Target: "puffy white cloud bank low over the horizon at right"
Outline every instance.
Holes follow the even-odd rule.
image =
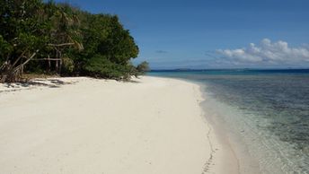
[[[291,48],[285,41],[271,42],[262,39],[259,45],[249,44],[246,48],[217,49],[225,63],[233,65],[301,65],[309,63],[307,45]]]

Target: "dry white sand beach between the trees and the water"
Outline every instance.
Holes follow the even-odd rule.
[[[0,85],[0,173],[237,173],[199,85],[85,77]]]

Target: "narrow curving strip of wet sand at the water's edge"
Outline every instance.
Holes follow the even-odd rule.
[[[212,127],[213,134],[216,135],[219,144],[223,145],[222,152],[218,152],[219,156],[221,156],[223,159],[220,161],[221,169],[219,165],[216,165],[215,168],[218,168],[216,171],[220,171],[219,173],[261,173],[259,161],[255,159],[249,152],[248,146],[245,144],[243,137],[236,134],[232,127],[226,125],[225,120],[222,117],[222,115],[225,115],[226,113],[220,111],[220,109],[217,108],[218,103],[213,103],[215,100],[212,99],[211,96],[209,96],[207,92],[203,90],[207,88],[206,84],[181,77],[166,77],[156,75],[154,75],[154,77],[166,79],[172,78],[199,85],[199,92],[203,99],[199,103],[199,106],[203,111],[203,117],[206,119],[208,126]],[[233,172],[231,172],[231,170]]]

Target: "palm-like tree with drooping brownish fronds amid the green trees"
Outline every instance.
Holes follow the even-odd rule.
[[[82,34],[80,30],[80,20],[78,19],[78,9],[69,4],[55,4],[49,2],[44,5],[45,18],[49,22],[49,43],[47,45],[47,60],[49,61],[49,71],[51,64],[49,57],[55,60],[54,70],[57,74],[62,73],[62,67],[66,72],[74,69],[74,51],[84,49],[82,44]],[[45,58],[46,59],[46,58]],[[45,60],[44,59],[44,60]]]

